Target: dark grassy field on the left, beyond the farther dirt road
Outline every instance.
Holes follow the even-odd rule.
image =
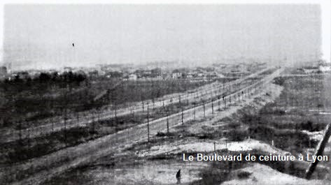
[[[212,81],[191,82],[190,80],[118,81],[98,80],[81,82],[72,88],[47,86],[18,88],[17,84],[1,84],[0,128],[26,128],[28,122],[54,116],[63,116],[92,110],[102,105],[125,107],[127,103],[158,98],[165,94],[195,89]],[[21,82],[24,83],[24,82]],[[40,89],[40,90],[38,90]],[[93,101],[101,92],[110,89],[106,97]],[[20,124],[19,124],[20,123]]]

